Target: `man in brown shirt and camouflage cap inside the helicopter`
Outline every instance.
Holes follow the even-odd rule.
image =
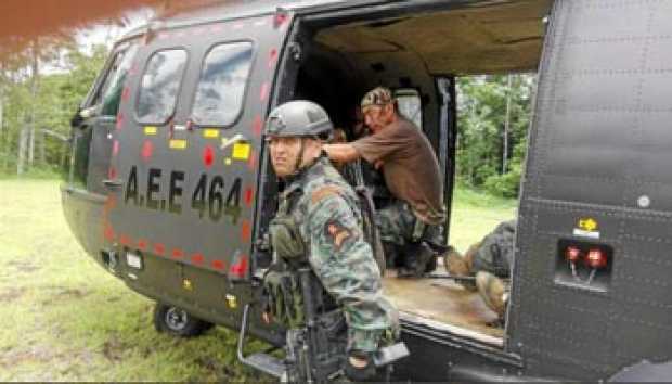
[[[370,91],[361,107],[373,135],[323,149],[337,163],[364,158],[383,169],[387,188],[398,202],[378,212],[380,238],[387,245],[419,243],[417,257],[409,257],[404,264],[421,276],[434,256],[426,243],[442,245],[445,208],[439,162],[419,128],[399,115],[389,89]]]

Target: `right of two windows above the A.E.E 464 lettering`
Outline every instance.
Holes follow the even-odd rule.
[[[251,57],[251,42],[219,44],[207,54],[194,100],[194,123],[228,126],[235,121],[243,105]]]

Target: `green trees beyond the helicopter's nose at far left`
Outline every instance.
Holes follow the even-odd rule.
[[[3,124],[0,129],[0,175],[16,171],[21,130],[29,126],[35,128],[35,168],[53,171],[67,161],[66,143],[41,135],[41,130],[69,136],[70,118],[107,56],[105,46],[94,47],[92,53],[87,54],[68,39],[44,40],[39,49],[38,65],[42,69],[35,78],[36,89],[33,89],[35,75],[29,71],[29,54],[23,52],[15,55],[15,60],[5,63],[1,71]],[[33,116],[35,121],[31,125]]]

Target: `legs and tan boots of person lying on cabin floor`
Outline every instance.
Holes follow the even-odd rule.
[[[501,321],[506,315],[509,285],[504,280],[511,278],[515,238],[516,220],[504,221],[483,240],[471,245],[464,256],[453,249],[444,258],[449,273],[476,277],[475,284],[462,284],[469,291],[478,291]]]

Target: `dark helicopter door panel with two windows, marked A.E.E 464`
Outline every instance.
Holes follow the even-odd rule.
[[[145,36],[121,93],[103,214],[131,280],[150,279],[152,258],[249,279],[262,121],[288,25],[271,14]]]

